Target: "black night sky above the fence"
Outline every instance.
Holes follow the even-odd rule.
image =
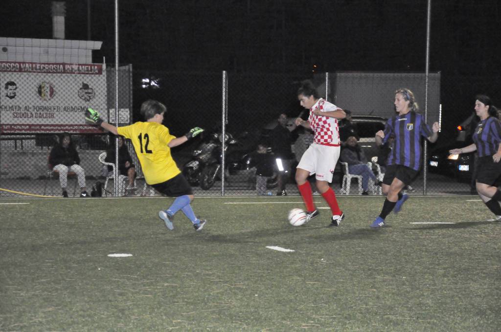
[[[51,1],[4,2],[0,35],[52,37]],[[426,4],[120,0],[120,61],[151,72],[424,71]],[[87,39],[87,0],[66,7],[66,38]],[[430,71],[442,73],[442,99],[457,107],[485,92],[501,104],[500,1],[433,0],[431,18]],[[91,0],[91,22],[91,39],[104,41],[94,60],[113,62],[114,1]]]

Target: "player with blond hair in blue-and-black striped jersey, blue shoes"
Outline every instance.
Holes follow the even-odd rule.
[[[395,91],[394,105],[398,114],[390,118],[384,131],[379,130],[375,137],[377,145],[385,143],[391,135],[395,136],[395,141],[383,178],[383,194],[386,199],[381,213],[372,222],[371,227],[382,227],[385,224],[384,219],[392,210],[395,213],[400,212],[403,203],[409,198],[407,193],[401,191],[416,177],[421,165],[420,136],[433,143],[437,140],[440,129],[438,122],[434,122],[430,128],[424,117],[417,113],[419,108],[414,93],[408,88]]]

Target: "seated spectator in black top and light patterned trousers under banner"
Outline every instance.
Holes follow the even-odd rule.
[[[49,154],[49,164],[52,170],[59,173],[59,182],[63,189],[63,197],[68,197],[66,186],[68,184],[68,172],[74,172],[78,177],[78,184],[80,185],[80,197],[88,197],[85,187],[85,171],[80,166],[80,157],[78,152],[71,141],[71,136],[68,132],[63,132],[59,138],[59,143],[54,145]]]

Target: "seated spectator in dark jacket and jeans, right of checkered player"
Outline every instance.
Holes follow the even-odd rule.
[[[376,179],[376,175],[372,169],[367,165],[367,158],[364,151],[355,136],[350,136],[346,140],[346,147],[341,151],[341,160],[348,163],[348,171],[351,174],[362,175],[362,194],[368,195],[367,188],[369,186],[369,178],[371,178],[376,185],[381,185],[380,181]]]

